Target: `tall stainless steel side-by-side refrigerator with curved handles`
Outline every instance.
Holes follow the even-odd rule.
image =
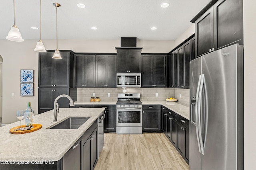
[[[190,170],[244,169],[243,46],[190,61]]]

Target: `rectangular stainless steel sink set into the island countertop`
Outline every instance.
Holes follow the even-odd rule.
[[[78,129],[90,117],[69,117],[68,119],[46,129]]]

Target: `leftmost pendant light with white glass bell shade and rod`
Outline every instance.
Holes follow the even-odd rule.
[[[14,25],[11,27],[11,30],[8,33],[8,36],[6,39],[10,41],[16,41],[16,42],[22,42],[24,39],[22,39],[20,31],[18,27],[16,26],[16,20],[15,20],[15,0],[13,0],[13,10],[14,10]]]

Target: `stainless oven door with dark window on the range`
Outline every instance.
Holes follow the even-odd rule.
[[[116,127],[142,127],[142,109],[117,108]]]

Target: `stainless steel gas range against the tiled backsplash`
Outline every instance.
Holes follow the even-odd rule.
[[[140,94],[117,94],[116,133],[142,134],[142,103]]]

